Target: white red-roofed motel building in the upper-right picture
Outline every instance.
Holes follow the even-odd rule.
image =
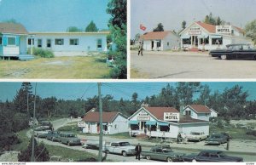
[[[194,22],[180,32],[181,48],[195,50],[212,50],[225,48],[231,43],[252,43],[252,39],[245,37],[245,32],[236,26],[212,26]]]

